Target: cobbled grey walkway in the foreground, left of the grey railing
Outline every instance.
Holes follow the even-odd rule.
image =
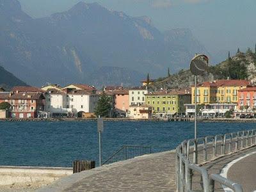
[[[175,191],[175,150],[76,173],[40,191]]]

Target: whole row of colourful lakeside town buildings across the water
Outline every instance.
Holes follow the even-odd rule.
[[[95,108],[102,95],[108,97],[108,118],[170,119],[195,114],[195,87],[150,92],[154,80],[141,86],[105,86],[97,90],[87,84],[47,84],[41,88],[1,88],[0,118],[96,118]],[[204,118],[255,118],[256,86],[247,80],[221,79],[198,84],[198,116]],[[7,106],[3,108],[4,106]]]

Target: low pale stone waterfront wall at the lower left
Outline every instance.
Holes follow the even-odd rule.
[[[0,166],[0,186],[35,183],[47,185],[72,174],[72,168]]]

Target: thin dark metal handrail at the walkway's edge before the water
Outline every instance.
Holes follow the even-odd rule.
[[[151,154],[151,146],[140,146],[140,145],[124,145],[117,150],[111,157],[109,157],[103,164],[114,163],[116,161],[123,161],[132,159],[133,157],[143,156],[145,154]]]

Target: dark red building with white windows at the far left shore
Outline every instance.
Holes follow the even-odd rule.
[[[11,104],[10,115],[13,118],[35,118],[40,111],[44,111],[43,92],[35,87],[15,87],[12,92],[0,93],[0,103]]]

